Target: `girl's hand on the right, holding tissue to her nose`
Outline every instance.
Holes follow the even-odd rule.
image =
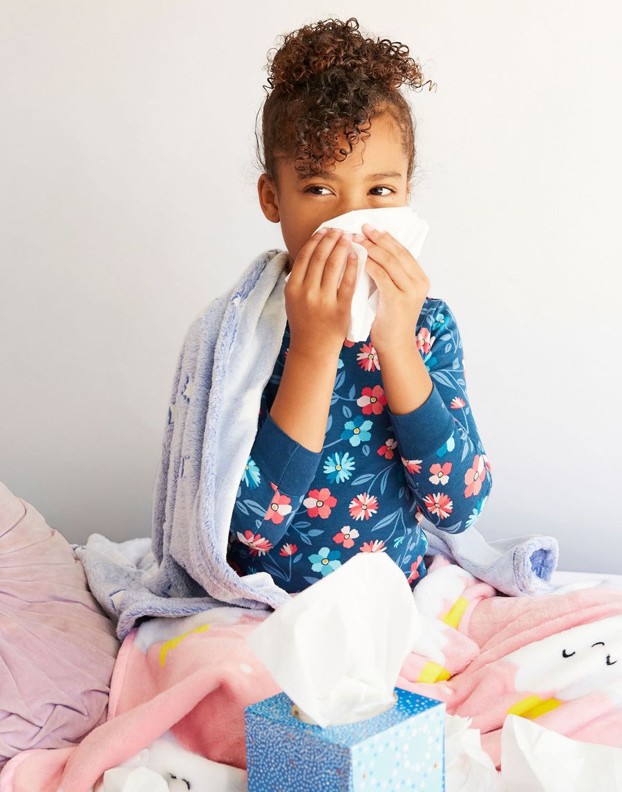
[[[416,339],[419,314],[426,301],[430,279],[412,256],[389,231],[365,223],[366,237],[355,234],[354,241],[367,251],[366,272],[380,291],[370,341],[376,352],[412,347]]]

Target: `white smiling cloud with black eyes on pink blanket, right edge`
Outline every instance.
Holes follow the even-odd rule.
[[[517,667],[518,693],[554,695],[552,709],[563,701],[578,699],[594,691],[620,698],[622,691],[622,616],[572,627],[571,630],[522,646],[506,656]],[[511,708],[514,714],[526,714],[530,696]],[[541,700],[541,699],[540,699]],[[522,710],[522,711],[521,711]],[[541,713],[540,713],[541,714]],[[526,714],[537,717],[536,714]]]

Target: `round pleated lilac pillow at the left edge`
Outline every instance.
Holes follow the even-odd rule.
[[[0,482],[0,768],[103,723],[118,652],[70,544]]]

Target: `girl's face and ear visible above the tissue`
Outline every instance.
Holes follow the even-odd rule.
[[[257,185],[264,215],[281,223],[291,271],[298,251],[324,221],[353,209],[407,206],[408,158],[400,128],[389,114],[375,116],[364,144],[359,139],[343,162],[304,180],[294,169],[294,157],[279,160],[279,192],[266,173]],[[363,152],[363,145],[365,151]],[[348,150],[345,136],[339,148]]]

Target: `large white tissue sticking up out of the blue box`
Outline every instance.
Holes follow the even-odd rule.
[[[271,613],[247,641],[301,720],[324,727],[393,706],[419,629],[404,572],[385,553],[359,553]]]

